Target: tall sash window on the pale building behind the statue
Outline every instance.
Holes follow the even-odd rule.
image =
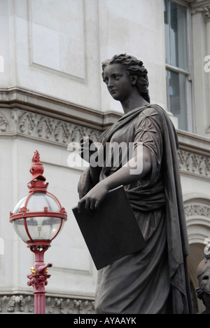
[[[188,6],[164,0],[167,107],[179,129],[193,130],[189,60]]]

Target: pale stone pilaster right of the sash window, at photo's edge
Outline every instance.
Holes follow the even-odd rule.
[[[210,1],[192,8],[193,68],[195,91],[196,133],[210,136],[210,72],[204,70],[205,58],[210,55]]]

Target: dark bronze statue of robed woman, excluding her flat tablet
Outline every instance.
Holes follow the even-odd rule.
[[[78,184],[78,209],[94,210],[110,189],[123,185],[146,247],[99,271],[97,313],[191,313],[188,235],[174,125],[161,107],[150,104],[148,72],[140,60],[115,55],[102,69],[109,93],[125,114],[102,133],[99,142],[104,146],[132,142],[134,158],[118,167],[90,164]],[[132,161],[140,160],[138,144],[143,144],[143,170],[131,175]]]

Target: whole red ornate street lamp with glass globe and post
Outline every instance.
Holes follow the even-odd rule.
[[[47,191],[48,183],[45,183],[43,165],[39,160],[39,153],[35,151],[34,165],[29,171],[32,175],[28,184],[29,195],[18,202],[13,213],[10,212],[10,222],[35,254],[35,264],[27,275],[28,285],[34,287],[35,314],[45,314],[45,285],[50,278],[48,267],[52,263],[44,264],[44,253],[62,230],[67,214],[59,200]]]

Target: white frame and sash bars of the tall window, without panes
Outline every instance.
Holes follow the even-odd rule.
[[[163,0],[165,1],[165,0]],[[169,100],[169,78],[168,74],[169,71],[181,73],[186,76],[186,121],[187,121],[187,132],[195,132],[195,118],[194,118],[194,102],[193,102],[193,41],[192,41],[192,29],[190,29],[190,26],[192,26],[192,20],[191,20],[191,8],[190,4],[183,2],[181,0],[167,0],[167,4],[171,4],[172,2],[179,4],[181,6],[185,6],[187,8],[187,15],[186,15],[186,34],[187,34],[187,69],[181,69],[179,67],[176,67],[172,64],[166,63],[165,58],[165,71],[166,71],[166,94],[167,94],[167,106],[169,107],[168,110],[170,112],[170,100]],[[170,9],[170,5],[169,5]],[[169,11],[170,13],[170,11]],[[171,26],[171,18],[170,15],[168,16],[169,20],[169,26]],[[169,29],[169,42],[170,42],[170,29]],[[166,39],[165,39],[165,47],[166,47]],[[169,51],[170,51],[170,60],[172,58],[171,56],[171,46],[169,44]],[[179,126],[178,126],[179,128]]]

